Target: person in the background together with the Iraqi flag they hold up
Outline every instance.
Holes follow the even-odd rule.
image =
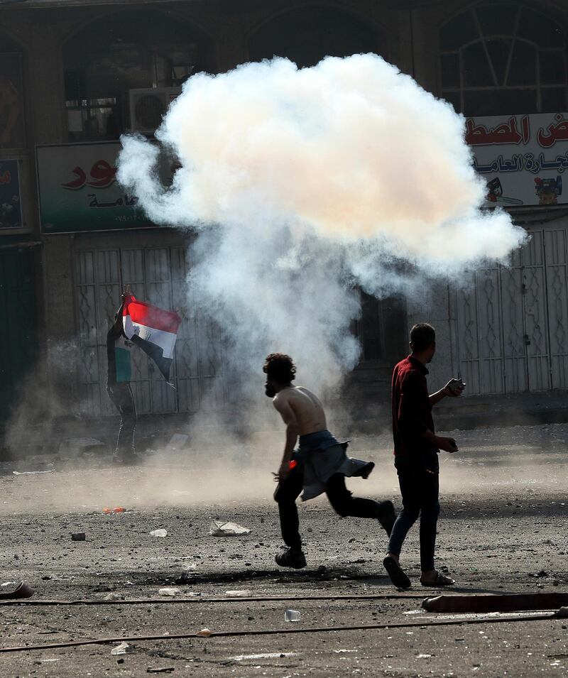
[[[148,354],[170,383],[173,349],[180,324],[181,318],[177,313],[138,301],[131,295],[129,285],[126,287],[114,324],[107,334],[107,391],[121,415],[113,458],[118,464],[137,464],[139,461],[134,449],[136,405],[130,386],[131,347],[139,346]]]

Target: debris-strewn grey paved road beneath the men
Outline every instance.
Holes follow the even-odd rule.
[[[459,454],[442,458],[439,566],[449,568],[459,590],[568,592],[566,425],[455,435]],[[388,440],[360,439],[353,451],[373,456],[377,469],[376,479],[353,481],[351,488],[396,497]],[[246,469],[233,454],[209,466],[208,458],[157,455],[134,471],[100,459],[5,464],[2,581],[26,579],[37,590],[33,601],[100,604],[5,606],[0,647],[191,634],[204,627],[244,635],[133,641],[133,652],[119,657],[111,655],[118,643],[0,654],[2,677],[138,677],[170,667],[175,676],[206,678],[567,674],[567,620],[432,625],[442,616],[421,611],[429,592],[415,585],[399,594],[384,576],[386,538],[378,525],[338,520],[324,499],[300,506],[307,569],[277,569],[269,465]],[[129,510],[102,512],[116,506]],[[212,537],[215,518],[252,532]],[[160,527],[167,537],[149,534]],[[86,532],[87,540],[72,542],[71,532]],[[404,554],[415,582],[417,558],[415,529]],[[187,583],[176,584],[184,568]],[[177,586],[178,598],[159,596],[163,586]],[[218,600],[235,590],[277,599]],[[106,601],[109,594],[119,599]],[[180,597],[187,601],[176,602]],[[299,622],[285,622],[288,607],[300,611]],[[400,624],[408,626],[384,628]],[[348,626],[383,628],[342,630]],[[322,627],[335,630],[310,632]],[[261,630],[306,633],[246,635]]]

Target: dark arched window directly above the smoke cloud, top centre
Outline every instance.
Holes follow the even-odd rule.
[[[279,14],[249,39],[252,61],[287,57],[300,68],[324,57],[378,52],[376,28],[351,13],[312,6]]]

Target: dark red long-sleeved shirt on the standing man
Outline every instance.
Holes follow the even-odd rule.
[[[393,371],[393,439],[395,454],[422,454],[439,452],[422,438],[426,430],[434,430],[432,405],[428,397],[424,365],[408,356]]]

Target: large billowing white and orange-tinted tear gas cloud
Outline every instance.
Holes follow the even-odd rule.
[[[359,356],[354,284],[384,295],[410,284],[395,263],[457,274],[525,238],[479,211],[464,119],[376,55],[196,75],[156,136],[182,163],[173,185],[140,137],[123,138],[119,181],[155,222],[200,231],[192,283],[257,370],[287,351],[334,383]]]

